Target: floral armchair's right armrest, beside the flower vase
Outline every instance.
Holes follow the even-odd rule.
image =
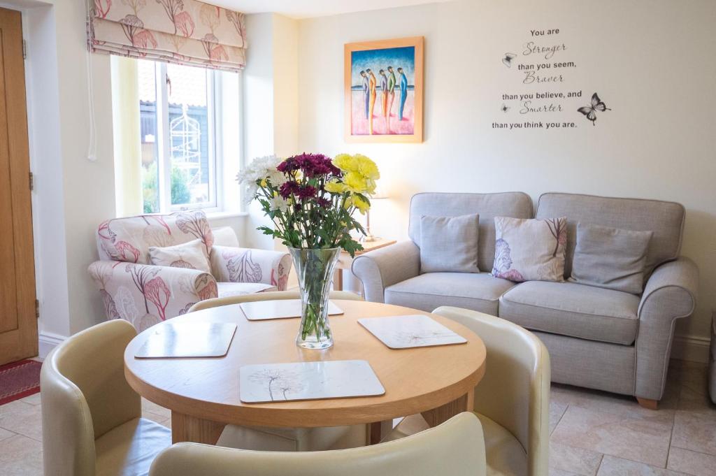
[[[286,289],[291,273],[291,255],[284,251],[214,246],[211,270],[221,283],[264,283]]]

